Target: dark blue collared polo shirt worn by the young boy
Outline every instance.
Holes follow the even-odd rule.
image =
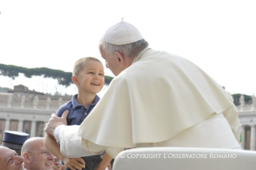
[[[61,117],[64,111],[69,111],[69,114],[67,115],[67,125],[80,125],[83,122],[83,119],[89,115],[96,103],[100,100],[100,97],[96,95],[93,103],[85,108],[83,104],[77,103],[76,97],[77,95],[73,95],[71,101],[64,103],[56,112],[56,115]]]

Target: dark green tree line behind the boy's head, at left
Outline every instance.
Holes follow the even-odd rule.
[[[47,67],[39,68],[26,68],[18,67],[14,65],[0,64],[0,75],[8,76],[11,79],[18,77],[18,73],[23,73],[27,78],[31,78],[33,75],[43,75],[45,78],[57,79],[60,85],[68,87],[72,83],[72,73],[60,70],[54,70]],[[105,84],[109,84],[113,77],[105,75]]]

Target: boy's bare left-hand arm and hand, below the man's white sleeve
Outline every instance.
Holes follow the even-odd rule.
[[[85,168],[85,163],[82,158],[67,158],[63,156],[60,152],[59,144],[56,142],[54,136],[46,134],[44,145],[54,156],[59,158],[59,160],[62,160],[63,163],[71,170]]]

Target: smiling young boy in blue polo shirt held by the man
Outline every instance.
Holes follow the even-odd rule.
[[[99,96],[96,95],[104,86],[104,67],[100,60],[86,57],[76,61],[73,67],[72,81],[78,89],[78,94],[74,95],[71,101],[59,107],[56,115],[61,117],[63,112],[68,110],[67,125],[79,125],[100,100]],[[100,155],[93,154],[83,158],[67,158],[61,154],[59,144],[54,136],[50,135],[46,135],[45,145],[51,153],[63,161],[67,166],[66,169],[92,170],[99,163],[96,169],[105,169],[112,160],[106,152],[104,152],[102,159]]]

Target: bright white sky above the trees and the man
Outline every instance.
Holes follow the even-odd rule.
[[[152,49],[196,63],[230,94],[256,95],[255,9],[254,0],[0,0],[0,63],[71,72],[82,57],[104,62],[100,38],[124,18]],[[105,75],[114,76],[106,68]],[[60,88],[53,79],[0,75],[0,87],[18,84]]]

